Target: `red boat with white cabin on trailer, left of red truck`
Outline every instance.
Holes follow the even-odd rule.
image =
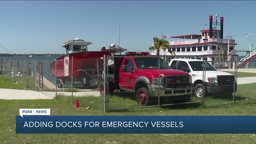
[[[71,77],[73,84],[83,84],[84,88],[97,86],[99,79],[102,79],[103,56],[126,50],[121,47],[111,47],[108,50],[88,51],[90,44],[92,43],[81,38],[63,43],[62,47],[65,47],[66,54],[51,63],[52,76],[57,77],[58,87],[71,84]]]

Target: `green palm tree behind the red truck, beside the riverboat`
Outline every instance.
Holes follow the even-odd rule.
[[[164,38],[159,39],[158,37],[154,37],[154,45],[149,47],[150,51],[156,50],[156,55],[159,55],[159,51],[163,49],[164,51],[166,48],[170,45],[168,41],[166,41]]]

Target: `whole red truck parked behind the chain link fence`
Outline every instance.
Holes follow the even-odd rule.
[[[170,69],[162,58],[143,52],[141,55],[133,54],[136,53],[126,52],[124,57],[113,57],[114,64],[108,67],[109,92],[116,89],[133,92],[142,106],[149,105],[158,95],[190,101],[193,84],[189,74]]]

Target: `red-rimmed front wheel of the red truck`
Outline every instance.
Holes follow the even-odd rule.
[[[141,87],[136,94],[137,102],[141,106],[148,106],[149,104],[149,91],[146,87]]]

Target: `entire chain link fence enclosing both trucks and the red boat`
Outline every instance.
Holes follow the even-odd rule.
[[[0,60],[1,75],[26,90],[55,92],[57,98],[73,105],[79,100],[81,107],[105,111],[187,103],[215,106],[256,99],[256,61],[204,59],[197,65],[178,62],[174,68],[173,56],[106,55],[104,59],[102,54],[66,56],[53,62],[11,56]]]

